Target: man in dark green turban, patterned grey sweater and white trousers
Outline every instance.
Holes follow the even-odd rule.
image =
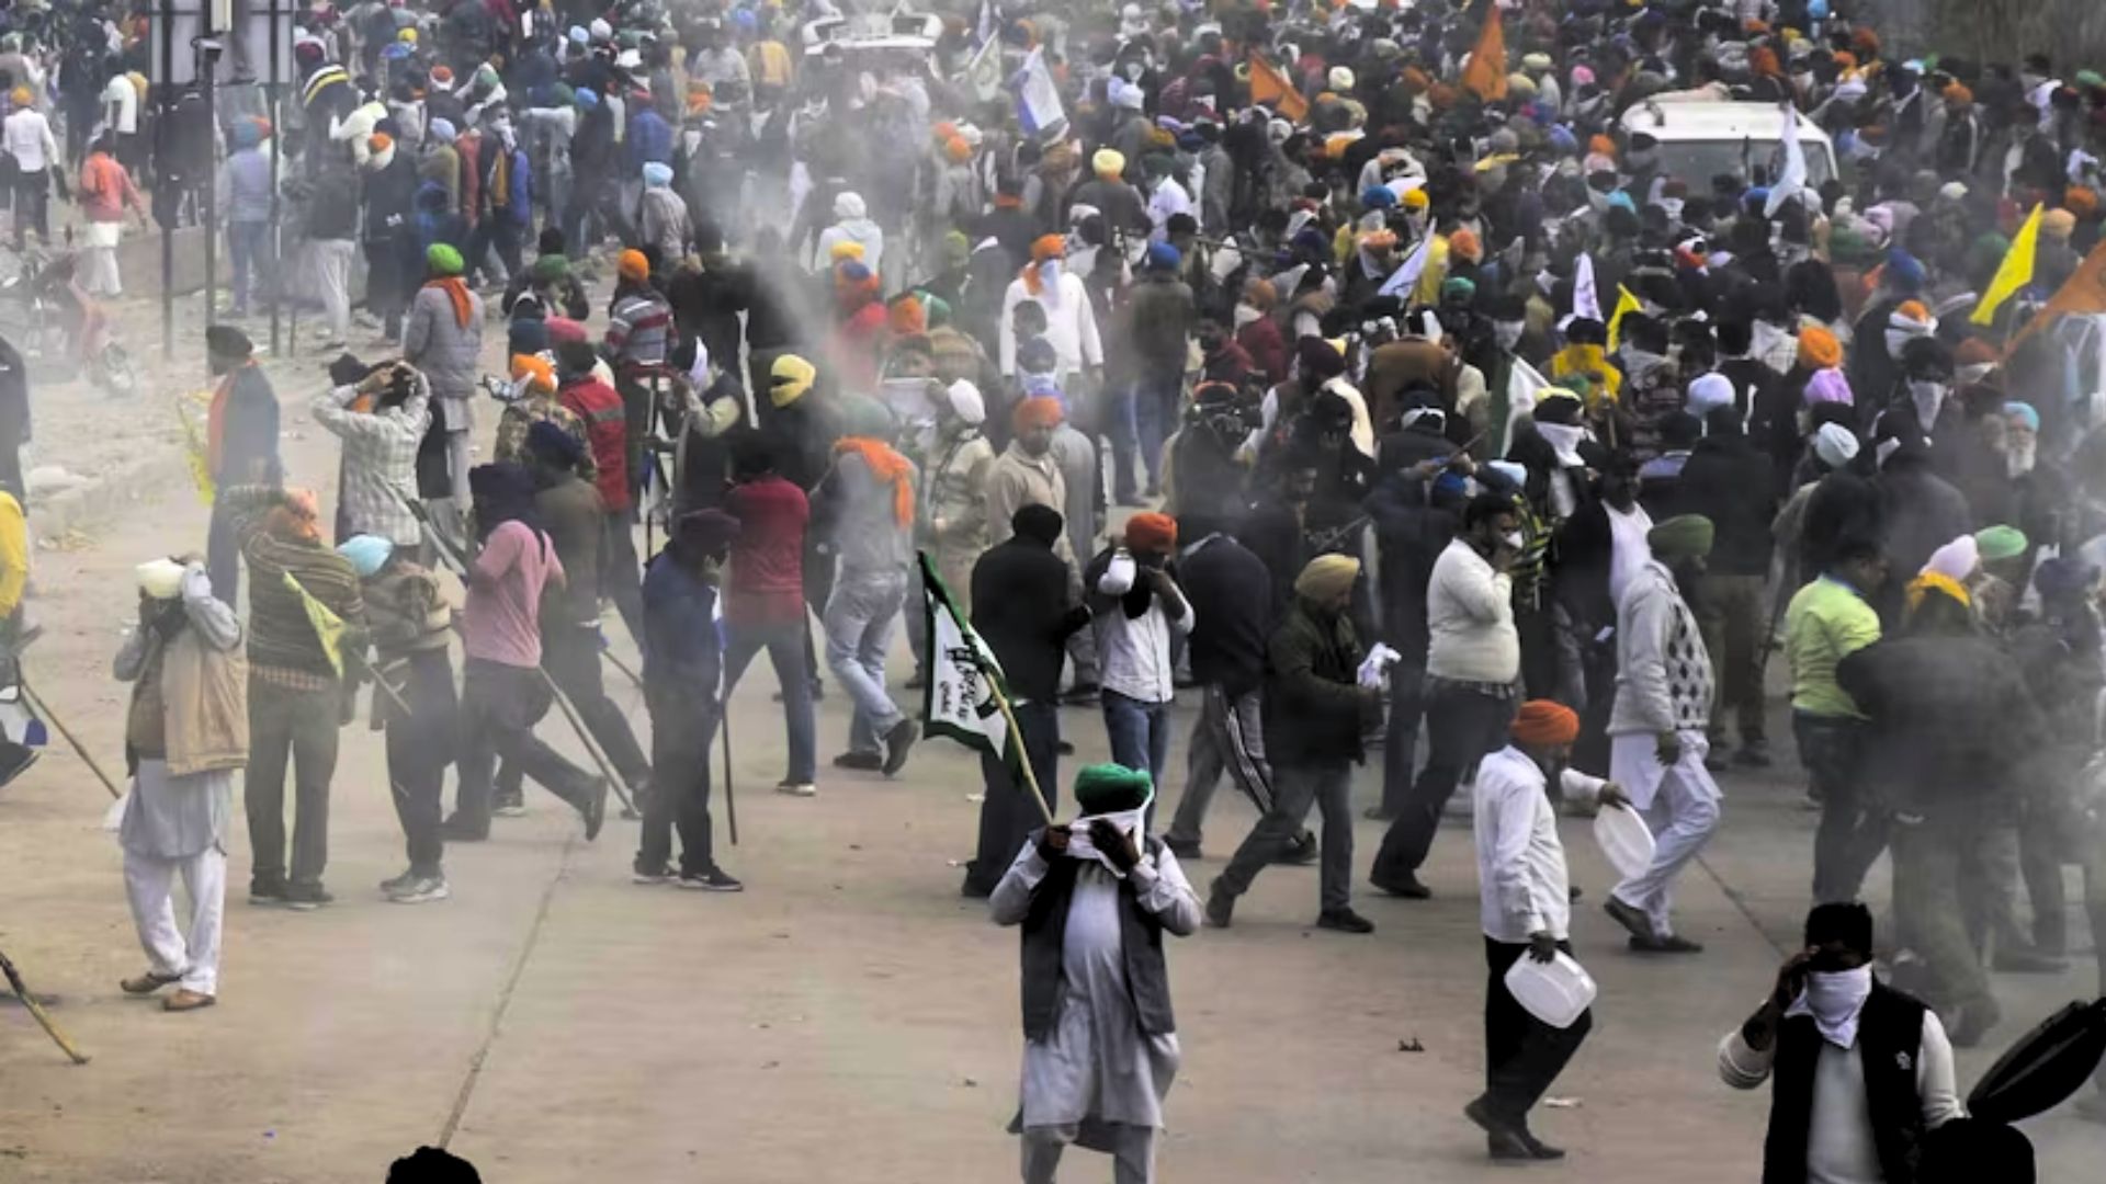
[[[1674,933],[1674,876],[1718,828],[1718,782],[1710,754],[1712,666],[1683,588],[1704,575],[1712,522],[1681,514],[1645,535],[1653,558],[1624,586],[1615,607],[1615,708],[1609,712],[1609,777],[1653,830],[1653,864],[1603,902],[1630,929],[1641,954],[1697,954]]]

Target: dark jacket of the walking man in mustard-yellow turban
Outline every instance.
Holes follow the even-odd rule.
[[[1379,712],[1354,683],[1360,638],[1352,619],[1295,596],[1266,645],[1266,758],[1272,765],[1360,761],[1360,735]]]

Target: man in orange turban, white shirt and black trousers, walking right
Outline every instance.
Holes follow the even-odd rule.
[[[1571,708],[1529,699],[1514,712],[1508,744],[1476,771],[1470,817],[1487,967],[1485,1091],[1464,1106],[1464,1117],[1485,1129],[1495,1161],[1565,1157],[1529,1131],[1529,1110],[1594,1026],[1592,1011],[1582,1011],[1569,1026],[1552,1028],[1506,988],[1506,971],[1523,956],[1550,963],[1571,954],[1571,876],[1550,782],[1558,782],[1565,801],[1630,805],[1615,784],[1567,767],[1577,737],[1580,716]]]

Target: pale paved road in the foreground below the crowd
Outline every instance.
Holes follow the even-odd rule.
[[[297,381],[280,377],[289,404],[305,394]],[[295,480],[329,485],[335,453],[297,419]],[[131,617],[131,567],[204,537],[190,491],[145,493],[84,550],[38,556],[48,634],[32,676],[118,773],[124,699],[107,659]],[[628,645],[619,624],[609,632]],[[371,1182],[442,1138],[503,1184],[1013,1178],[1002,1125],[1019,1049],[1015,935],[956,895],[977,765],[925,746],[895,782],[828,775],[813,801],[769,794],[781,775],[771,691],[756,668],[731,712],[743,843],[722,862],[750,887],[731,897],[630,885],[634,824],[611,822],[585,845],[554,798],[531,796],[529,817],[449,851],[455,900],[390,906],[373,883],[400,870],[400,834],[379,739],[356,725],[333,803],[337,906],[293,914],[236,900],[221,1005],[194,1015],[116,990],[139,952],[116,845],[97,828],[105,798],[53,750],[0,794],[0,948],[63,996],[57,1013],[95,1064],[63,1066],[19,1009],[0,1009],[0,1180]],[[1179,739],[1190,718],[1188,704]],[[1104,756],[1093,712],[1070,710],[1064,725],[1078,746],[1066,771]],[[819,733],[830,756],[847,733],[838,695]],[[1573,1159],[1537,1173],[1756,1178],[1767,1098],[1718,1085],[1712,1060],[1805,908],[1813,820],[1794,780],[1780,769],[1727,782],[1725,828],[1683,891],[1685,931],[1710,946],[1697,959],[1624,952],[1594,908],[1607,866],[1586,824],[1567,824],[1588,889],[1575,944],[1601,1001],[1594,1037],[1552,1091],[1571,1106],[1535,1121]],[[1177,788],[1181,777],[1163,809]],[[1363,771],[1360,805],[1377,790]],[[1190,868],[1200,887],[1253,820],[1234,794],[1215,811],[1211,857]],[[1379,828],[1356,830],[1365,870]],[[246,836],[236,828],[230,845],[238,889]],[[1466,826],[1443,830],[1426,879],[1436,900],[1365,900],[1379,929],[1346,938],[1310,929],[1314,870],[1276,868],[1232,931],[1175,944],[1186,1068],[1163,1180],[1491,1178],[1483,1138],[1459,1117],[1481,1074],[1485,978]],[[2081,916],[2077,931],[2089,948]],[[2011,1022],[1996,1037],[2091,992],[2089,980],[2001,980]],[[1400,1051],[1405,1041],[1424,1051]],[[1969,1081],[1992,1051],[1965,1058]],[[2070,1117],[2037,1123],[2034,1138],[2047,1180],[2087,1180],[2106,1155],[2106,1127]],[[1087,1155],[1068,1169],[1104,1176]]]

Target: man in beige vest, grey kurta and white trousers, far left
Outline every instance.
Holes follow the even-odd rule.
[[[227,904],[227,817],[234,771],[249,763],[249,666],[234,609],[213,596],[202,563],[139,567],[139,628],[114,672],[133,685],[124,752],[133,788],[118,843],[124,895],[147,969],[124,994],[177,990],[166,1011],[219,999],[219,929]],[[187,933],[175,921],[175,879],[190,893]]]

